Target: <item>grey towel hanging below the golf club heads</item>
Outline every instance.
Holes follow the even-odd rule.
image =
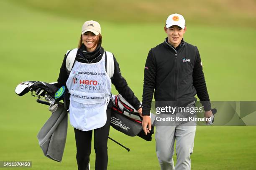
[[[58,105],[37,135],[44,155],[61,162],[67,138],[68,116],[64,105]]]

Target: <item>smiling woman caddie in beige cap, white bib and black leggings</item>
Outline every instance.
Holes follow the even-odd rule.
[[[58,86],[66,85],[70,93],[69,117],[74,127],[78,170],[89,169],[92,130],[96,153],[95,170],[107,169],[110,108],[113,105],[110,95],[111,83],[119,94],[142,114],[141,102],[122,77],[114,56],[113,77],[110,78],[107,74],[105,55],[109,52],[105,52],[101,46],[100,32],[100,24],[96,21],[86,21],[83,24],[73,68],[68,74],[65,65],[66,54],[58,78]],[[99,85],[100,88],[96,87]]]

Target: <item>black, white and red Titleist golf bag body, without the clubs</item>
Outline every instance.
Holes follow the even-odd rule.
[[[128,136],[139,136],[144,140],[151,141],[154,133],[154,126],[151,125],[151,131],[147,135],[142,128],[142,117],[136,109],[129,104],[122,95],[113,96],[114,105],[111,112],[110,125]],[[155,115],[151,114],[152,124]]]

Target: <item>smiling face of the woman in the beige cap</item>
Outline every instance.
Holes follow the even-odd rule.
[[[84,34],[82,35],[82,42],[84,43],[87,51],[92,52],[96,49],[97,44],[95,45],[95,43],[97,43],[97,38],[98,36],[95,35],[93,32],[84,32]]]

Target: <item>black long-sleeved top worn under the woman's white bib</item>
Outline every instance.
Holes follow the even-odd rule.
[[[97,47],[97,49],[98,49],[98,52],[96,54],[92,55],[92,57],[91,56],[87,57],[86,55],[84,55],[84,52],[83,52],[85,50],[85,46],[82,45],[82,47],[78,49],[76,60],[83,63],[99,62],[102,58],[104,49],[101,46]],[[59,72],[59,78],[58,78],[58,84],[57,84],[58,87],[61,87],[62,85],[66,86],[66,82],[69,77],[69,74],[67,73],[67,70],[66,70],[66,59],[67,59],[67,56],[65,54],[64,60],[62,62],[60,72]],[[142,107],[141,102],[134,95],[133,91],[128,86],[125,78],[121,75],[119,64],[116,61],[115,57],[114,57],[114,66],[115,66],[115,70],[114,70],[113,77],[111,78],[111,82],[113,83],[113,85],[115,85],[115,89],[119,92],[119,94],[122,95],[125,98],[125,100],[127,100],[136,110],[138,110],[139,108]],[[112,103],[110,102],[110,104]],[[111,105],[108,105],[108,107],[111,107]]]

